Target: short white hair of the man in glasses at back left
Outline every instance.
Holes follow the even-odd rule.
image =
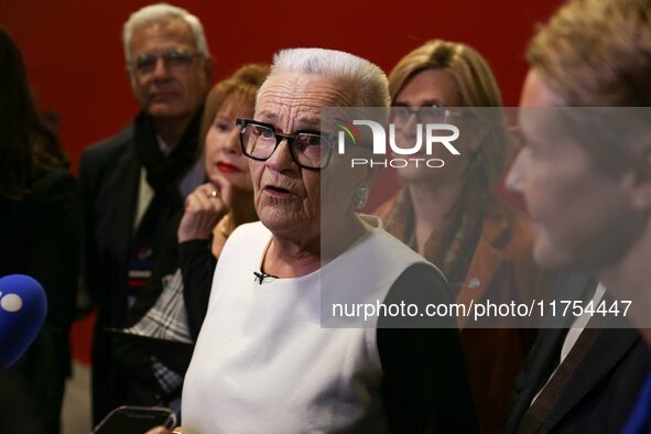
[[[131,63],[132,61],[130,44],[133,29],[152,22],[169,19],[185,21],[194,34],[197,52],[204,57],[208,56],[208,43],[206,42],[204,26],[202,25],[199,19],[183,8],[167,3],[156,3],[145,6],[144,8],[133,12],[122,28],[122,43],[124,44],[124,58],[127,59],[127,64]]]

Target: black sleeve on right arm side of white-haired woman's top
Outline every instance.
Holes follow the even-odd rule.
[[[451,294],[443,275],[420,263],[403,271],[384,304],[402,301],[424,312],[449,303]],[[479,432],[456,318],[381,317],[377,334],[392,433]]]

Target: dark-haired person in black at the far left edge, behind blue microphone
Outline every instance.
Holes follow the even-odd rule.
[[[47,296],[43,328],[2,372],[4,432],[59,432],[79,271],[78,199],[68,160],[32,99],[20,51],[0,28],[0,276],[28,274]]]

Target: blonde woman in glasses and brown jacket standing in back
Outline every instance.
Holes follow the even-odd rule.
[[[477,111],[477,119],[462,127],[455,141],[460,158],[436,169],[395,170],[404,186],[375,213],[387,231],[438,267],[458,302],[510,302],[545,291],[550,276],[532,258],[533,224],[493,192],[510,140],[499,111],[500,89],[486,59],[466,44],[432,40],[395,65],[389,88],[392,121],[405,144],[415,142],[417,123],[458,124],[452,116],[475,115],[451,109],[493,109]],[[496,433],[535,330],[463,328],[460,336],[482,432]]]

